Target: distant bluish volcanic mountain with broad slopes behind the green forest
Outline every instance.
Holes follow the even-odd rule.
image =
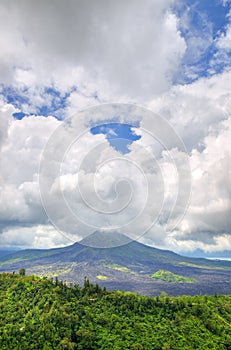
[[[146,295],[158,295],[161,292],[171,295],[231,292],[230,261],[183,257],[168,250],[129,241],[121,234],[107,237],[105,233],[95,232],[82,242],[64,248],[27,249],[2,256],[0,271],[25,268],[28,274],[49,278],[58,276],[67,283],[78,284],[82,284],[86,276],[91,282],[109,289]],[[97,245],[102,247],[102,243],[105,247],[117,246],[95,248]],[[153,274],[160,270],[180,276],[181,281],[195,282],[153,279]]]

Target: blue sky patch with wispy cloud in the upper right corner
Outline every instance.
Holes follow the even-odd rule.
[[[220,0],[184,1],[179,2],[176,13],[181,18],[185,17],[187,23],[183,20],[180,23],[180,30],[188,43],[182,62],[182,72],[175,77],[176,83],[178,81],[190,83],[202,76],[221,73],[227,62],[215,58],[219,54],[216,39],[221,33],[226,32],[226,26],[230,23],[230,4],[224,5]],[[200,41],[195,43],[194,40],[197,39],[201,39],[202,43]],[[197,46],[198,52],[194,56],[193,51]],[[228,57],[230,59],[230,54]],[[192,71],[192,76],[188,74],[189,70]]]

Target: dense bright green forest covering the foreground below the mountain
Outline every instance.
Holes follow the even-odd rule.
[[[231,349],[231,296],[150,298],[1,274],[0,349]]]

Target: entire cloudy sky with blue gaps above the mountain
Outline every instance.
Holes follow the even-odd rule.
[[[0,247],[231,257],[230,0],[2,0],[0,47]]]

